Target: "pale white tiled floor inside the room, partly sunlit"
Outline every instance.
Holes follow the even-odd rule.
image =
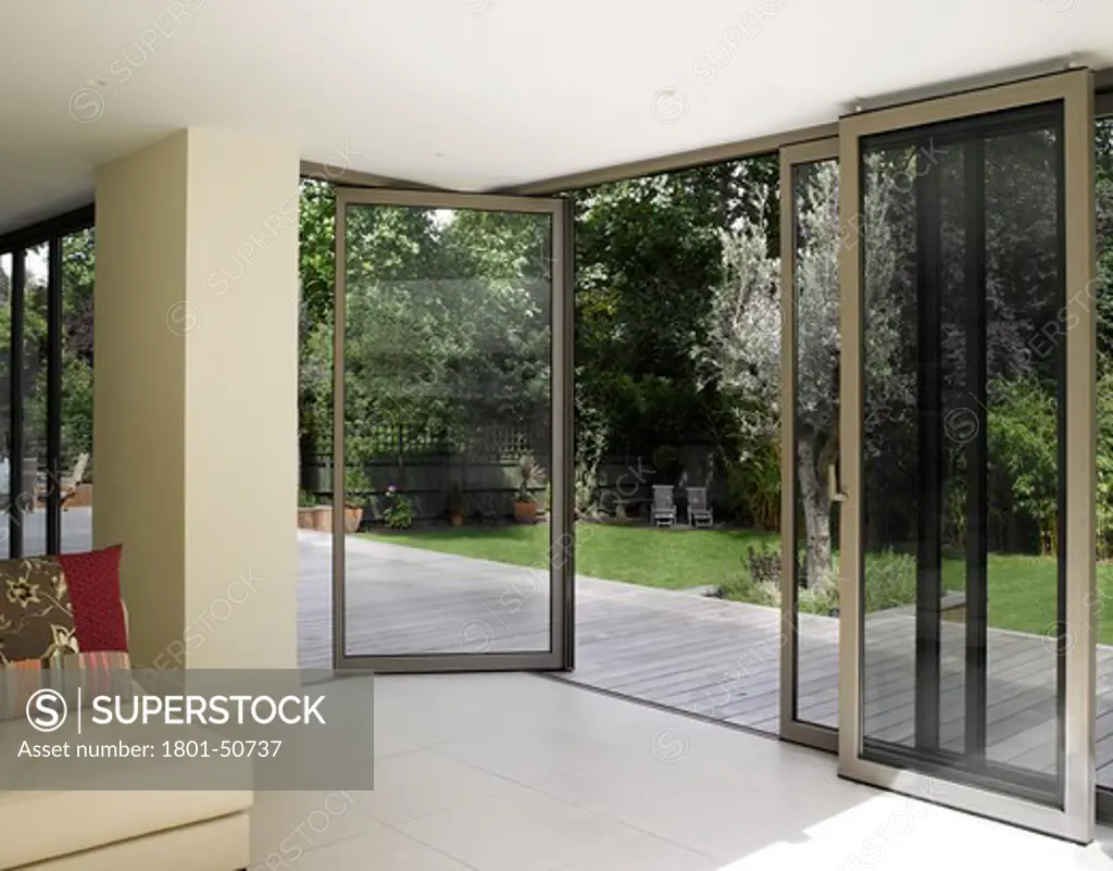
[[[374,792],[258,793],[253,871],[1113,871],[1113,846],[847,783],[830,756],[543,677],[380,677],[375,703]]]

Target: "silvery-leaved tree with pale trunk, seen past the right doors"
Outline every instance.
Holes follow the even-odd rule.
[[[893,371],[888,391],[907,397],[909,386],[892,361],[900,348],[899,309],[892,293],[893,254],[889,208],[900,176],[880,160],[867,162],[865,212],[860,222],[866,258],[866,333],[873,365]],[[827,467],[838,456],[839,282],[844,239],[838,222],[838,166],[809,167],[797,189],[796,273],[796,457],[806,530],[806,580],[815,588],[831,583],[830,496]],[[754,208],[723,233],[722,283],[715,288],[707,342],[695,345],[723,389],[735,398],[740,431],[751,440],[775,439],[780,427],[781,288],[780,257],[771,253],[770,198],[767,188],[751,193]],[[875,397],[885,401],[888,397]]]

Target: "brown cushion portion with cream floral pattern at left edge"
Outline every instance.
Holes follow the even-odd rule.
[[[75,627],[68,579],[55,559],[0,560],[0,665],[76,653]]]

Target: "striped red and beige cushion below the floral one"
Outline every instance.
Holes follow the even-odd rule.
[[[93,696],[131,698],[131,662],[125,650],[56,654],[0,666],[0,720],[26,716],[28,699],[40,689],[56,689],[73,707],[81,691],[81,706]]]

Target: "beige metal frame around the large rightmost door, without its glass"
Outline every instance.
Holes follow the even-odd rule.
[[[926,773],[861,759],[861,252],[856,216],[860,198],[860,140],[877,133],[915,128],[956,118],[1048,101],[1063,105],[1065,300],[1090,297],[1094,281],[1094,112],[1090,70],[1033,78],[1011,85],[851,115],[839,123],[839,225],[846,245],[841,284],[840,461],[843,502],[839,560],[839,762],[847,777],[933,802],[1002,819],[1072,841],[1093,839],[1095,790],[1095,317],[1075,306],[1078,322],[1066,339],[1066,613],[1063,805],[1037,804],[1004,793],[959,784]],[[1085,232],[1082,232],[1085,231]]]

